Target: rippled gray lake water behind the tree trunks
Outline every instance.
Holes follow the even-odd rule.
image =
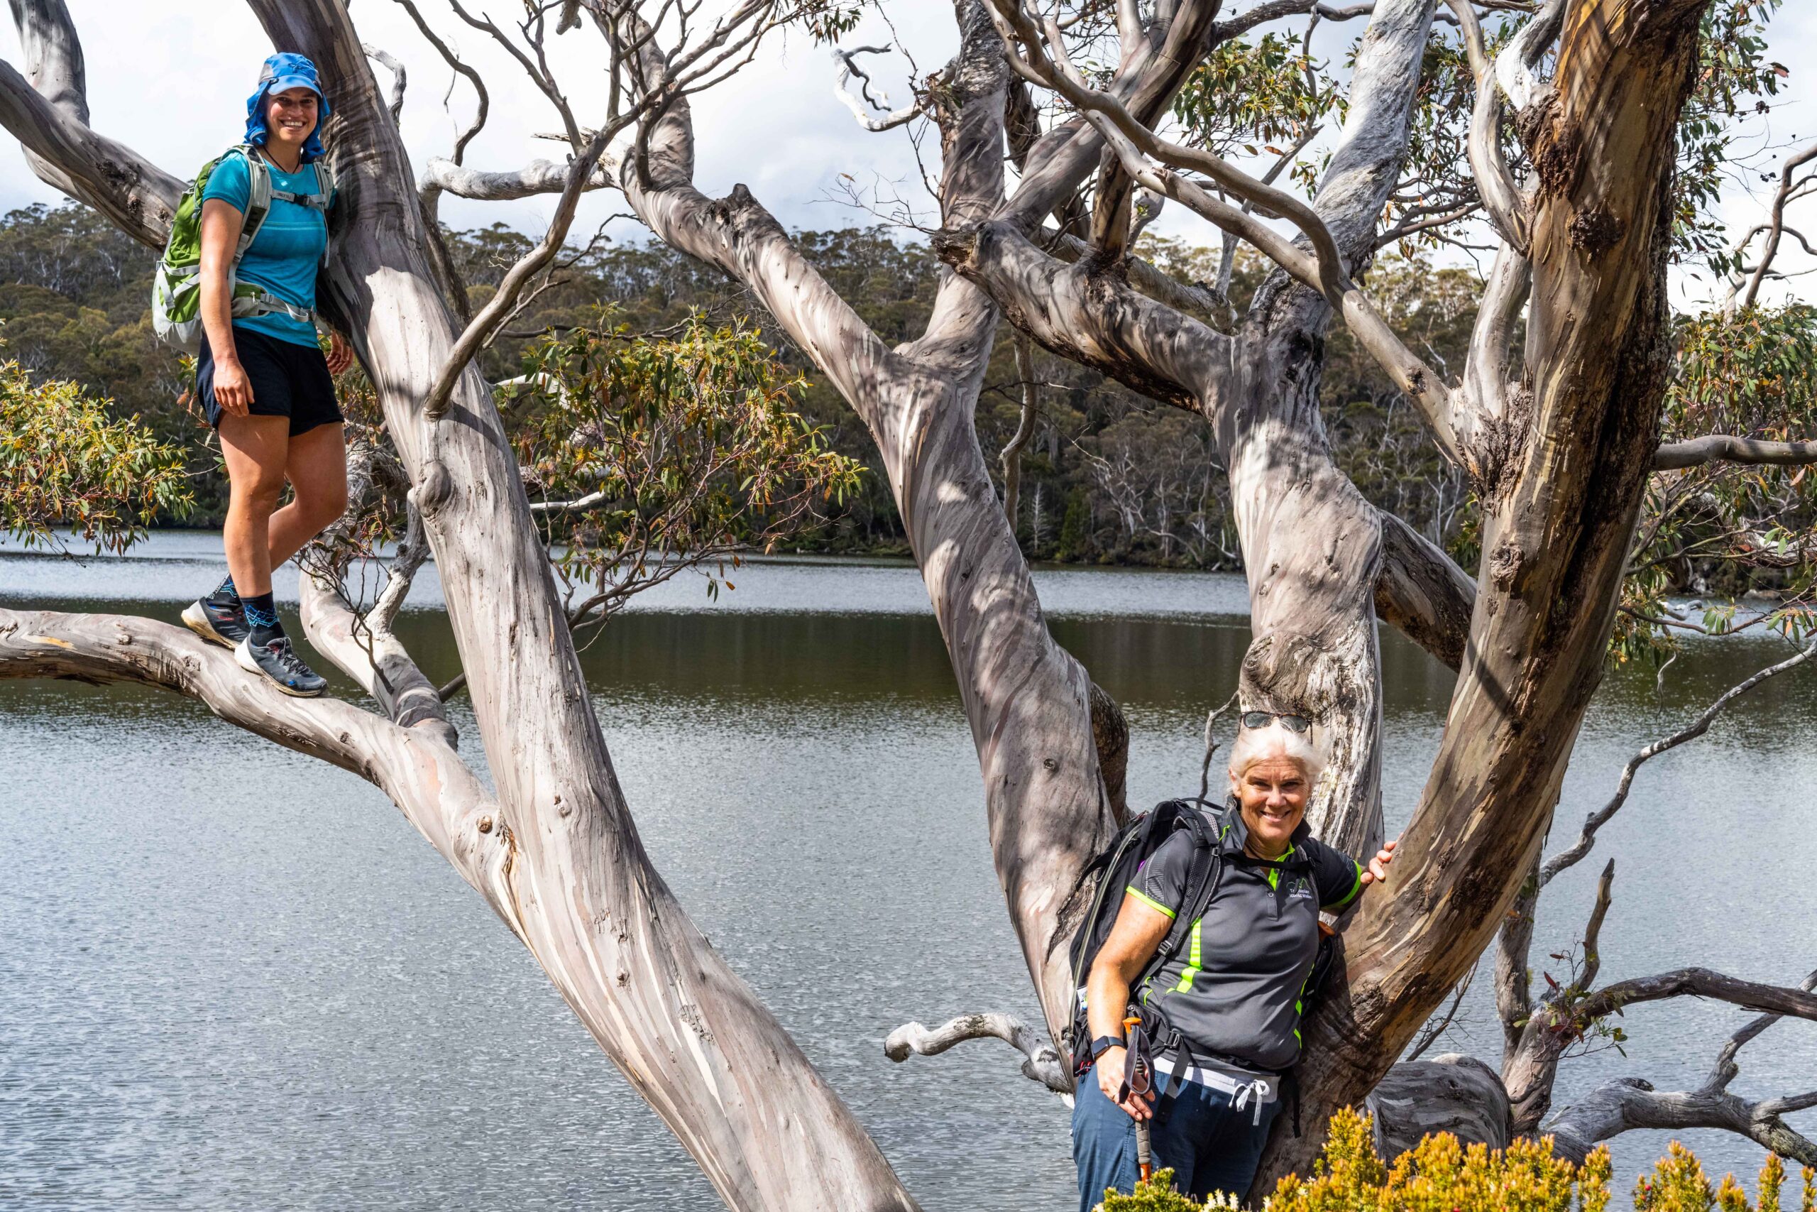
[[[15,607],[174,621],[218,576],[209,534],[80,563],[0,551]],[[892,1065],[881,1050],[912,1018],[1036,1018],[919,576],[801,560],[732,581],[718,601],[696,578],[652,591],[585,654],[656,865],[925,1208],[1068,1207],[1067,1110],[1016,1054],[987,1041]],[[1038,583],[1059,640],[1128,712],[1130,800],[1196,792],[1203,712],[1230,694],[1248,640],[1241,580]],[[400,631],[431,676],[451,676],[431,569],[412,603]],[[1781,652],[1695,643],[1663,690],[1650,671],[1610,676],[1554,845],[1632,750]],[[1392,832],[1425,781],[1450,674],[1386,631],[1385,665]],[[1535,956],[1570,947],[1615,856],[1604,979],[1708,965],[1797,983],[1817,967],[1813,734],[1817,671],[1799,671],[1648,763],[1595,861],[1548,890]],[[0,1207],[718,1207],[527,952],[351,774],[176,696],[0,683]],[[1484,965],[1437,1050],[1499,1058],[1490,992]],[[1635,1007],[1626,1058],[1568,1063],[1561,1101],[1619,1074],[1697,1085],[1746,1019],[1688,999]],[[1737,1092],[1813,1088],[1817,1023],[1781,1023],[1741,1061]],[[1817,1132],[1817,1114],[1793,1123]],[[1623,1136],[1617,1185],[1668,1139]],[[1741,1137],[1684,1139],[1717,1174],[1759,1168]]]

